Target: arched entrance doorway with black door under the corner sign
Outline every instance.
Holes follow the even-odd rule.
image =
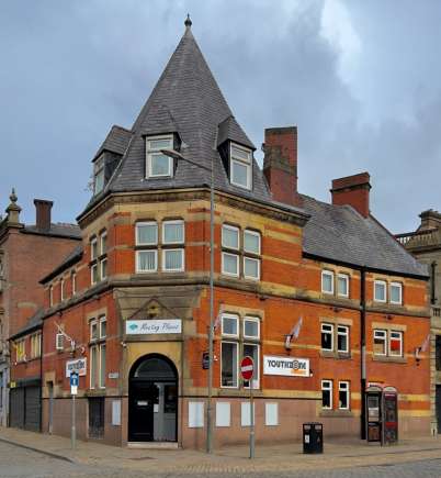
[[[147,355],[132,367],[128,383],[128,441],[176,442],[178,374],[165,356]]]

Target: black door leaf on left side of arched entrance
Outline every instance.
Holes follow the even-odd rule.
[[[148,381],[134,381],[131,386],[128,403],[128,440],[131,442],[152,442],[154,413],[159,403],[158,387]]]

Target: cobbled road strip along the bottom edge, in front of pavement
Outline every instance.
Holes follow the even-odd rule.
[[[212,476],[223,478],[231,477],[231,473],[210,473],[203,469],[201,473],[192,474],[161,474],[158,469],[155,474],[140,473],[139,470],[127,470],[111,467],[97,467],[93,464],[69,463],[58,458],[53,458],[41,453],[32,452],[15,445],[0,443],[0,477],[1,478],[136,478],[146,477],[165,478],[182,477],[190,478],[195,475],[200,477]],[[332,470],[304,470],[286,474],[276,471],[252,471],[248,474],[237,474],[236,476],[249,478],[437,478],[441,477],[441,457],[418,462],[408,462],[399,465],[387,466],[365,466]]]

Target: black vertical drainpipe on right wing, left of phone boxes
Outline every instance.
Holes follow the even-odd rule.
[[[366,440],[366,269],[360,269],[360,396],[361,416],[360,435]]]

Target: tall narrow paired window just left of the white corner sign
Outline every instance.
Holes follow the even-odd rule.
[[[90,321],[90,388],[105,388],[105,337],[106,319],[100,316]]]

